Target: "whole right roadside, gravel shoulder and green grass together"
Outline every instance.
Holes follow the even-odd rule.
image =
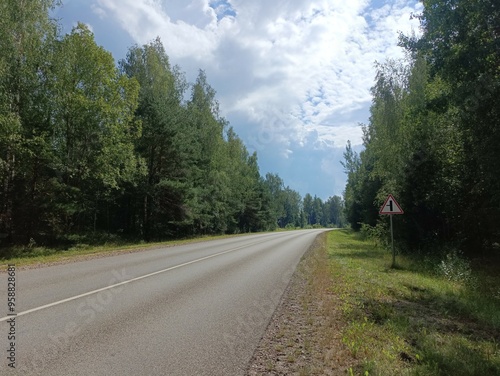
[[[500,260],[454,260],[444,275],[422,261],[392,269],[349,231],[318,238],[247,374],[500,375]]]

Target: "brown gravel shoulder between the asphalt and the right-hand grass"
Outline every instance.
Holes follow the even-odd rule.
[[[247,375],[346,375],[355,369],[358,361],[342,343],[345,324],[331,286],[325,233],[299,263]]]

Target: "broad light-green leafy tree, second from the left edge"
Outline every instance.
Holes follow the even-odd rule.
[[[91,217],[103,200],[141,174],[134,153],[141,128],[133,121],[139,87],[117,71],[111,54],[83,24],[57,44],[53,66],[53,184],[67,216]]]

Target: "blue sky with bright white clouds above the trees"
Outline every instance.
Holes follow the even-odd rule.
[[[415,0],[63,0],[63,32],[83,22],[116,61],[160,37],[193,83],[200,69],[260,171],[302,196],[342,195],[348,140],[362,150],[375,63],[404,57]]]

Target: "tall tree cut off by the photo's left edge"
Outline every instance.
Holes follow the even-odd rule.
[[[26,241],[39,211],[47,151],[47,57],[56,36],[51,0],[2,1],[0,9],[0,242]]]

